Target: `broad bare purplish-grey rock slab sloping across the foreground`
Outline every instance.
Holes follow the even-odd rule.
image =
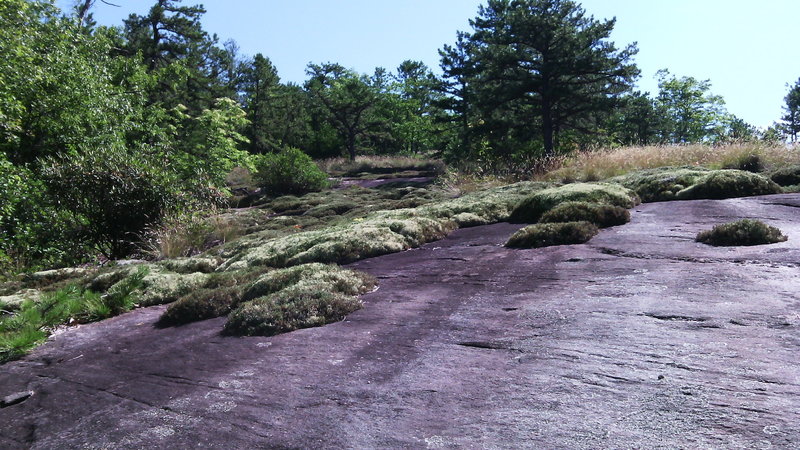
[[[222,337],[163,307],[0,367],[0,448],[798,448],[800,196],[646,204],[589,244],[459,230],[351,267],[345,322]],[[714,248],[757,218],[785,243]]]

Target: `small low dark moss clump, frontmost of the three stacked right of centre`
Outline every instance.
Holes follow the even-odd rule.
[[[540,248],[553,245],[583,244],[599,232],[589,222],[537,223],[514,233],[506,242],[509,248]]]

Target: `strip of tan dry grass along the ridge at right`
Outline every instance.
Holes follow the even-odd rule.
[[[765,170],[800,164],[800,151],[761,142],[624,147],[578,153],[565,158],[560,167],[539,178],[562,182],[598,181],[641,169],[675,166],[738,169],[754,156]]]

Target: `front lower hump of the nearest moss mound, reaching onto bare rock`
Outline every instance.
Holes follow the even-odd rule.
[[[225,333],[272,336],[338,322],[361,308],[358,297],[332,292],[326,287],[295,285],[247,302],[228,317]]]

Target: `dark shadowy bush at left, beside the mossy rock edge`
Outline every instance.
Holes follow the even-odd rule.
[[[49,195],[77,216],[79,238],[111,259],[130,255],[144,232],[178,206],[163,173],[120,152],[51,159],[43,177]]]

